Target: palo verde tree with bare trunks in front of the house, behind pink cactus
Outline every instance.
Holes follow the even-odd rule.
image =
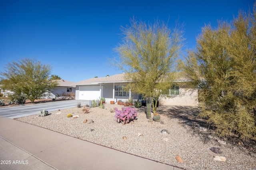
[[[182,47],[182,30],[171,31],[158,20],[147,25],[132,18],[130,24],[122,27],[122,43],[115,48],[119,53],[116,65],[130,80],[128,89],[154,101],[171,87],[175,78],[174,60]],[[157,100],[153,104],[154,113],[156,106]]]

